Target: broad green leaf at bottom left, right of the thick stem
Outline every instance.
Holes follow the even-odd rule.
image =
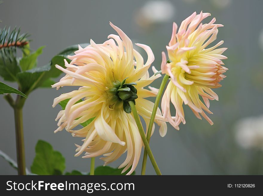
[[[65,170],[65,158],[45,141],[36,144],[36,156],[31,166],[31,172],[38,175],[62,174]]]

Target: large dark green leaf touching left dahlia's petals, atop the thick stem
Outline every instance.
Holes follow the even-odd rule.
[[[21,85],[21,91],[24,92],[25,94],[29,94],[34,89],[42,86],[42,84],[46,80],[49,80],[50,78],[58,77],[62,73],[62,71],[57,69],[55,65],[58,64],[64,67],[65,66],[64,59],[65,56],[57,55],[52,58],[50,64],[18,73],[17,78]],[[70,62],[69,59],[67,59],[67,61]]]

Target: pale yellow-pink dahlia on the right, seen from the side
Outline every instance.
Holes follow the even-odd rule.
[[[166,62],[166,55],[162,52],[162,73],[171,78],[162,98],[162,112],[178,130],[181,122],[185,124],[183,103],[192,109],[197,118],[201,119],[201,114],[213,124],[204,111],[212,114],[208,109],[209,100],[218,100],[218,96],[211,88],[221,87],[218,83],[226,77],[222,74],[228,70],[221,61],[227,58],[221,55],[227,48],[215,49],[224,41],[205,49],[215,41],[217,28],[223,26],[214,24],[215,18],[208,24],[200,24],[207,16],[210,13],[193,13],[181,23],[178,33],[177,25],[173,23],[172,38],[169,46],[166,46],[169,61]],[[170,114],[170,101],[176,109],[175,117]]]

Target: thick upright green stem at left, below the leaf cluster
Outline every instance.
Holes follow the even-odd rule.
[[[18,175],[26,175],[22,108],[14,107],[14,113],[16,128],[16,158],[18,165]]]

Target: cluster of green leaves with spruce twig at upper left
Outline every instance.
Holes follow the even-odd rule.
[[[20,29],[16,28],[10,33],[10,28],[0,30],[0,76],[7,81],[16,81],[20,90],[28,95],[38,87],[50,87],[55,82],[52,78],[58,77],[62,71],[58,70],[55,65],[58,64],[65,68],[64,59],[70,62],[66,55],[74,54],[78,50],[78,45],[73,45],[58,55],[55,55],[51,62],[37,67],[37,58],[42,54],[44,47],[38,48],[31,53],[28,34],[19,35]],[[82,47],[88,44],[81,44]],[[22,50],[21,59],[16,56],[16,49]]]

